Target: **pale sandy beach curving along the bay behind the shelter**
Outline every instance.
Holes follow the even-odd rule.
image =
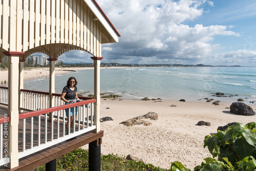
[[[25,70],[24,79],[35,79],[49,76],[49,68]],[[93,68],[56,68],[55,74],[65,74],[69,71]],[[41,74],[39,74],[41,72]],[[0,79],[7,80],[8,72],[0,71]],[[118,154],[126,157],[132,154],[161,168],[169,168],[170,162],[179,161],[189,169],[200,165],[204,158],[211,157],[208,149],[203,148],[206,135],[217,133],[218,126],[230,122],[248,123],[256,121],[256,116],[239,116],[229,112],[231,103],[220,102],[213,105],[200,101],[180,102],[177,100],[111,100],[101,99],[100,118],[112,117],[113,121],[100,124],[104,131],[101,153]],[[170,105],[176,105],[174,107]],[[256,110],[255,104],[249,104]],[[107,109],[109,108],[109,109]],[[136,116],[155,112],[158,120],[152,120],[152,125],[125,126],[120,122]],[[198,121],[210,122],[210,126],[199,126]],[[88,148],[88,145],[83,148]]]

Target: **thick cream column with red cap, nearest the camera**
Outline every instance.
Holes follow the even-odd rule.
[[[8,157],[9,168],[18,166],[18,79],[19,56],[24,52],[3,52],[8,56]]]

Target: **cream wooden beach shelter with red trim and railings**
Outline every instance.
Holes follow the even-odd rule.
[[[20,160],[34,153],[40,152],[42,149],[48,149],[57,143],[63,143],[70,139],[70,136],[82,135],[93,130],[94,133],[101,137],[103,132],[100,132],[99,112],[100,112],[100,60],[101,44],[118,42],[119,33],[112,25],[108,17],[101,10],[95,0],[19,0],[19,1],[1,1],[0,3],[0,63],[5,56],[8,56],[8,89],[0,89],[0,104],[8,105],[8,116],[0,118],[0,165],[8,163],[9,168],[21,168]],[[77,120],[78,131],[74,130],[71,135],[61,137],[60,131],[52,133],[50,141],[47,134],[47,120],[54,120],[55,113],[61,113],[64,107],[59,106],[56,98],[59,95],[55,94],[55,61],[61,54],[70,50],[82,50],[92,54],[94,60],[94,97],[80,104],[70,105],[67,108],[79,107],[81,113],[80,120]],[[26,58],[36,52],[45,53],[49,56],[50,65],[50,86],[49,92],[33,92],[23,89],[24,61]],[[32,94],[33,95],[32,95]],[[27,94],[27,96],[26,96]],[[36,94],[34,96],[34,94]],[[39,96],[40,94],[40,96]],[[47,98],[46,98],[47,97]],[[26,99],[24,101],[24,99]],[[41,100],[43,99],[43,100]],[[35,103],[31,101],[35,100]],[[45,100],[45,101],[44,101]],[[48,106],[41,107],[39,111],[32,109],[31,106],[43,105],[48,103]],[[31,103],[31,106],[28,106]],[[86,106],[91,104],[91,116],[94,116],[94,121],[89,124],[84,121],[84,113]],[[28,107],[26,107],[28,106]],[[84,107],[85,106],[85,107]],[[38,108],[39,109],[39,108]],[[22,110],[30,111],[27,114],[19,114]],[[82,115],[83,113],[83,115]],[[50,115],[49,115],[50,114]],[[45,117],[45,143],[41,143],[40,139],[40,115]],[[80,116],[80,115],[79,115]],[[87,116],[89,116],[89,108],[87,108]],[[33,141],[34,133],[29,133],[31,148],[27,150],[26,143],[26,124],[23,124],[23,150],[20,152],[19,143],[22,143],[19,137],[19,126],[26,123],[26,118],[31,118],[31,131],[34,129],[34,117],[38,117],[37,131],[38,146],[35,147]],[[61,125],[58,118],[58,126]],[[5,123],[8,123],[8,153],[3,152],[3,143],[5,140]],[[84,123],[87,124],[87,131],[79,133],[80,127],[84,130]],[[51,122],[52,129],[55,124]],[[62,116],[62,124],[65,125],[65,116]],[[91,128],[89,129],[89,127]],[[25,130],[25,132],[24,132]],[[65,130],[65,129],[64,129]],[[52,130],[52,132],[54,132]],[[38,134],[37,133],[37,134]],[[27,133],[28,135],[28,133]],[[95,135],[94,135],[95,136]],[[24,138],[25,137],[25,138]],[[56,138],[57,137],[57,138]],[[96,136],[98,145],[101,142],[101,137]],[[55,141],[56,138],[56,141]],[[54,143],[53,143],[54,142]],[[90,143],[90,139],[86,141]],[[46,145],[48,144],[48,145]],[[45,146],[44,146],[45,145]],[[81,144],[80,144],[81,145]],[[25,147],[24,147],[25,146]],[[29,151],[29,152],[27,152]],[[66,151],[67,152],[67,151]],[[55,155],[57,157],[57,155]],[[53,157],[54,158],[54,157]],[[51,158],[52,159],[52,158]],[[45,160],[49,162],[49,160]],[[31,165],[30,165],[31,166]],[[23,167],[25,168],[25,167]],[[32,167],[31,167],[32,168]]]

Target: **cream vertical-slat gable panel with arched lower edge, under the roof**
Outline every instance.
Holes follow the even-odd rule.
[[[51,53],[57,58],[64,52],[77,49],[101,56],[101,34],[107,32],[91,6],[87,5],[88,1],[0,2],[0,60],[3,51],[29,51],[26,55]]]

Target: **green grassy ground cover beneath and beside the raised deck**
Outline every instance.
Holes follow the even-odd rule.
[[[72,170],[72,171],[87,171],[89,170],[89,154],[87,150],[77,148],[74,151],[61,156],[56,159],[56,168],[57,170]],[[35,169],[34,171],[44,171],[45,165],[41,165]],[[118,155],[109,154],[105,156],[101,156],[101,170],[145,170],[145,171],[153,171],[159,170],[158,167],[155,167],[152,164],[145,164],[141,161],[135,160],[126,160],[124,157],[120,157]],[[166,169],[160,169],[166,170]]]

